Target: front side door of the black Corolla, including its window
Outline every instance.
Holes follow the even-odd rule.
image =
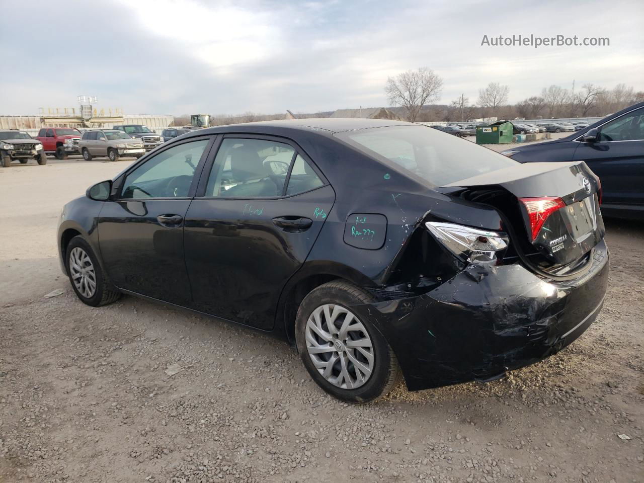
[[[191,305],[184,217],[211,144],[175,143],[118,178],[117,200],[104,204],[98,229],[106,272],[120,289]]]

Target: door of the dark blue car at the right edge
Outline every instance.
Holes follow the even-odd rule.
[[[644,205],[644,108],[625,113],[598,128],[594,142],[582,142],[574,159],[600,177],[602,204]]]

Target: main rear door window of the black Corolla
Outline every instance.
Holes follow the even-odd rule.
[[[224,139],[208,178],[205,196],[282,196],[295,149],[262,139]]]

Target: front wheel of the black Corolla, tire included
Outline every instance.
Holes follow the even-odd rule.
[[[82,236],[71,239],[65,261],[71,287],[82,303],[100,307],[120,298],[120,292],[109,288],[94,251]]]

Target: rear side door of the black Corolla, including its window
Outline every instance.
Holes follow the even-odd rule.
[[[335,193],[283,138],[228,135],[185,216],[185,264],[198,310],[263,330],[313,247]]]

